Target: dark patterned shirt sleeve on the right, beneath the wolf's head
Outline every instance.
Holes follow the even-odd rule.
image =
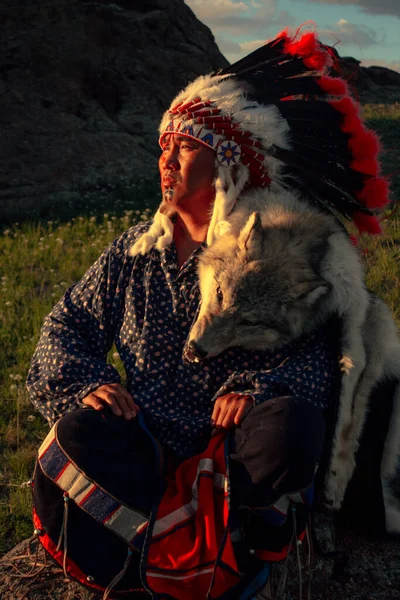
[[[283,350],[282,361],[272,369],[234,371],[214,400],[236,392],[252,396],[258,405],[290,395],[327,408],[335,397],[338,378],[337,345],[322,330]]]

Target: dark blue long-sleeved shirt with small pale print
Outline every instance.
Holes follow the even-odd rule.
[[[148,426],[182,457],[207,443],[213,402],[227,392],[251,393],[256,403],[296,395],[325,408],[338,361],[324,328],[275,352],[232,348],[184,363],[199,304],[201,248],[181,268],[174,244],[133,258],[129,248],[148,227],[142,223],[115,240],[46,317],[27,386],[49,423],[82,406],[98,386],[120,382],[107,364],[113,342]]]

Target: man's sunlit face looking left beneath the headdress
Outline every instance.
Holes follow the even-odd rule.
[[[203,144],[168,134],[159,160],[164,200],[177,211],[206,215],[215,197],[215,152]],[[165,190],[171,189],[171,194]]]

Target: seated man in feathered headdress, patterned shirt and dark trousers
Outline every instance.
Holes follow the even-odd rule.
[[[188,364],[183,350],[199,253],[243,189],[287,186],[376,226],[362,192],[378,180],[350,166],[351,136],[366,134],[353,106],[327,102],[345,86],[305,38],[280,34],[178,95],[160,127],[153,222],[114,241],[45,320],[28,388],[56,425],[39,451],[34,520],[66,574],[104,598],[250,597],[264,563],[304,534],[338,395],[332,324],[276,352]],[[106,362],[113,342],[127,389]]]

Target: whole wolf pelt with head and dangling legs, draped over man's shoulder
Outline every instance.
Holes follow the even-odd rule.
[[[252,334],[237,318],[246,312],[238,306],[246,295],[247,316],[271,325],[261,338],[253,334],[257,348],[273,348],[339,316],[342,383],[324,489],[330,509],[341,507],[352,478],[372,389],[386,378],[397,380],[381,477],[386,528],[400,533],[400,505],[391,491],[400,455],[400,344],[390,311],[366,289],[359,252],[343,226],[292,192],[248,193],[203,252],[199,281],[202,302],[188,345],[210,356],[229,345],[252,347]],[[229,322],[236,338],[224,330]]]

